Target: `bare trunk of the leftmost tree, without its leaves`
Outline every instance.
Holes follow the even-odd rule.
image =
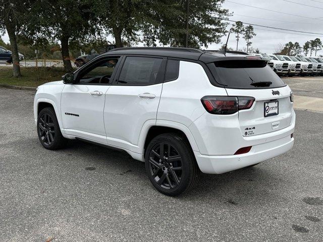
[[[17,46],[17,38],[16,38],[16,26],[13,26],[8,21],[5,22],[6,29],[8,32],[10,45],[12,48],[12,63],[13,63],[13,77],[20,77],[20,64],[19,64],[19,55],[18,55],[18,46]]]

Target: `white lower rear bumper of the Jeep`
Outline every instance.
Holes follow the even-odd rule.
[[[222,174],[274,158],[289,151],[294,145],[290,135],[272,142],[255,145],[242,155],[208,156],[194,151],[197,164],[203,173]]]

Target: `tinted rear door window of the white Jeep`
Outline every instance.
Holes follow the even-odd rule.
[[[162,82],[162,58],[127,57],[122,67],[118,84],[151,85]]]

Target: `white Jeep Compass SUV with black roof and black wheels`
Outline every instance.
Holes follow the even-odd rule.
[[[145,162],[166,195],[290,150],[291,89],[259,57],[190,48],[120,48],[38,87],[34,117],[50,150],[79,139]]]

